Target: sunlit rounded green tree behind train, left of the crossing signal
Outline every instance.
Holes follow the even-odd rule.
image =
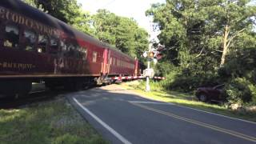
[[[98,10],[93,15],[92,23],[96,38],[134,58],[141,58],[148,46],[146,30],[138,27],[133,18],[120,17],[108,10]]]

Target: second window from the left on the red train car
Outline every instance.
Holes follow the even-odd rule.
[[[24,30],[25,50],[34,51],[34,44],[36,42],[36,34],[32,30]]]

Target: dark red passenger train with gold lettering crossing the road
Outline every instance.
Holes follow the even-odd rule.
[[[33,82],[54,90],[142,74],[138,59],[20,0],[0,1],[0,94],[22,97]]]

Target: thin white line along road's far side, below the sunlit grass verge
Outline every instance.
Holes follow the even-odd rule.
[[[139,102],[139,101],[129,101],[129,102],[134,102],[134,103],[148,103],[148,104],[162,104],[162,105],[172,105],[172,106],[179,106],[179,107],[184,107],[186,109],[190,109],[190,110],[197,110],[197,111],[200,111],[200,112],[203,112],[203,113],[207,113],[207,114],[213,114],[213,115],[218,115],[220,117],[224,117],[224,118],[230,118],[230,119],[234,119],[234,120],[238,120],[238,121],[242,121],[242,122],[248,122],[248,123],[252,123],[252,124],[256,124],[256,122],[251,122],[251,121],[247,121],[247,120],[244,120],[244,119],[240,119],[240,118],[232,118],[232,117],[229,117],[229,116],[226,116],[226,115],[222,115],[222,114],[215,114],[215,113],[211,113],[209,111],[205,111],[205,110],[198,110],[198,109],[194,109],[192,107],[187,107],[187,106],[180,106],[180,105],[177,105],[177,104],[174,104],[174,103],[168,103],[168,102]],[[164,104],[166,103],[166,104]]]

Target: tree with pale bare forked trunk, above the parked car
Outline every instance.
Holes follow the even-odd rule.
[[[226,55],[230,46],[238,35],[246,30],[252,30],[252,17],[256,16],[256,6],[249,5],[250,0],[226,0],[215,5],[216,9],[210,10],[209,21],[215,21],[220,26],[222,33],[222,59],[220,66],[226,62]]]

